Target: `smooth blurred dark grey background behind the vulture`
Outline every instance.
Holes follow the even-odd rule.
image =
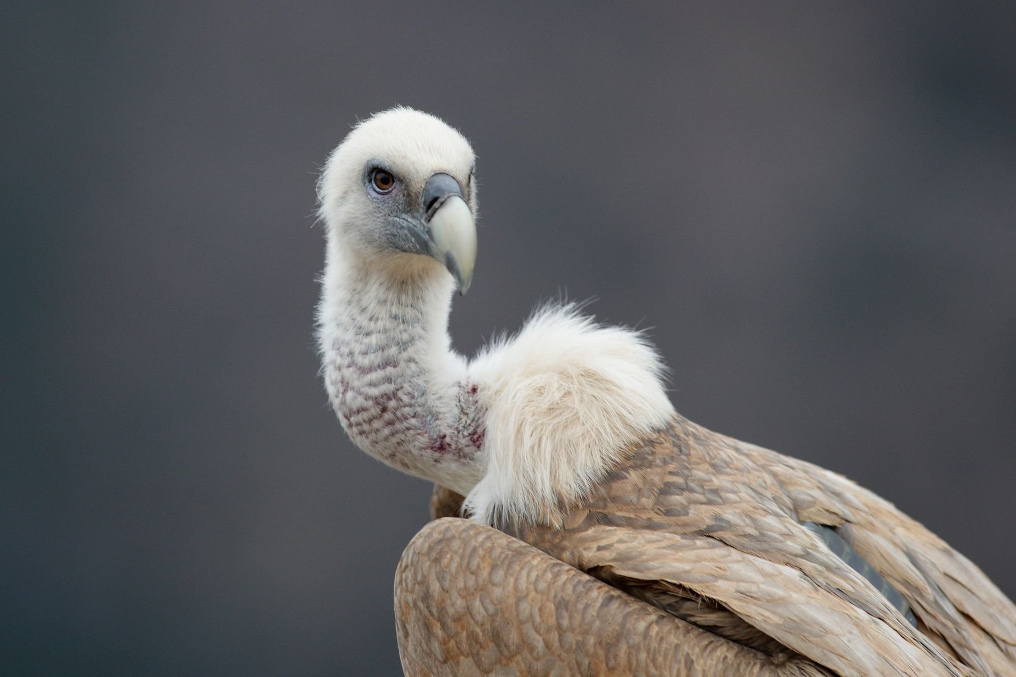
[[[431,488],[312,340],[317,169],[395,104],[480,157],[459,350],[595,296],[1016,595],[1011,3],[14,4],[0,672],[397,673]]]

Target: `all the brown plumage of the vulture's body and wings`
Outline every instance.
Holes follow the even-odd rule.
[[[436,488],[434,516],[456,514],[460,501]],[[1016,608],[985,574],[892,504],[811,464],[677,417],[562,511],[559,526],[504,526],[550,558],[464,520],[421,532],[396,579],[407,674],[494,674],[498,665],[521,674],[1016,674]],[[909,601],[917,628],[805,520],[852,537]],[[439,584],[421,599],[427,580]],[[604,612],[581,616],[580,594]],[[444,615],[428,619],[425,609]],[[662,623],[659,610],[684,622]],[[622,619],[653,631],[622,629]],[[575,636],[618,642],[620,654],[569,662],[555,647]],[[449,641],[468,651],[437,651]]]

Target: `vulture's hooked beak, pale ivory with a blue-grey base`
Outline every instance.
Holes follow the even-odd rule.
[[[435,174],[424,186],[424,223],[428,253],[448,268],[458,293],[472,282],[477,262],[477,223],[462,196],[462,187],[448,174]]]

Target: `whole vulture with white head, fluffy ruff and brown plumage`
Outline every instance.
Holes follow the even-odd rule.
[[[330,401],[362,449],[437,484],[396,573],[406,674],[1016,675],[1016,608],[972,562],[839,475],[682,418],[639,333],[549,306],[455,354],[472,173],[458,132],[393,109],[319,184]]]

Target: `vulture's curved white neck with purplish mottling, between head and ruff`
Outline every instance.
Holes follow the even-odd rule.
[[[400,258],[395,267],[329,252],[319,317],[325,385],[363,450],[465,495],[483,476],[483,412],[451,350],[451,276],[435,261]]]

